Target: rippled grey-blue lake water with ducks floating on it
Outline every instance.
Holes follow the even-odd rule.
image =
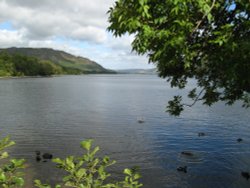
[[[16,141],[12,156],[27,159],[26,187],[36,178],[53,183],[61,173],[52,162],[37,163],[35,150],[78,155],[88,138],[117,161],[111,172],[118,178],[125,167],[140,166],[146,188],[250,187],[241,176],[250,171],[250,109],[197,104],[171,117],[165,106],[174,92],[154,75],[3,79],[0,133]]]

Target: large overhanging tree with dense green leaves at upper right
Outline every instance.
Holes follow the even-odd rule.
[[[118,0],[108,14],[108,30],[134,35],[133,50],[146,54],[171,87],[197,81],[191,104],[174,96],[170,114],[197,101],[250,106],[249,0]]]

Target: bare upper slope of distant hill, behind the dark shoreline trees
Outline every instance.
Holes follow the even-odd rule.
[[[8,54],[19,54],[28,57],[35,57],[41,61],[50,61],[56,66],[60,66],[67,74],[93,74],[93,73],[115,73],[107,70],[94,61],[85,57],[74,56],[64,51],[50,48],[6,48],[0,52]]]

